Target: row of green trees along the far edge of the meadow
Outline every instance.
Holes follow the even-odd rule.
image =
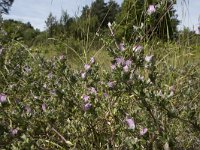
[[[1,0],[1,13],[8,13],[14,0]],[[4,4],[3,4],[4,3]],[[8,42],[10,39],[23,40],[28,45],[44,43],[48,38],[59,40],[92,39],[95,35],[108,35],[108,22],[115,24],[115,36],[118,41],[137,41],[142,38],[158,38],[173,40],[178,31],[175,1],[171,0],[124,0],[120,6],[114,0],[107,3],[104,0],[95,0],[90,6],[82,8],[80,16],[72,17],[67,10],[62,10],[60,18],[49,13],[45,24],[46,29],[39,31],[28,23],[15,20],[4,20],[2,28],[6,35],[2,39]],[[149,15],[148,7],[153,5],[156,11]],[[142,28],[138,33],[136,29]],[[17,27],[17,29],[16,29]],[[1,38],[1,36],[0,36]]]

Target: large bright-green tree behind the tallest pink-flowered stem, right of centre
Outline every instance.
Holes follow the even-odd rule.
[[[177,33],[176,11],[173,8],[175,1],[171,0],[124,0],[122,3],[121,13],[117,17],[120,24],[118,38],[124,37],[126,40],[135,40],[136,35],[134,26],[140,27],[144,23],[145,36],[152,35],[159,39],[172,39],[174,33]],[[148,14],[149,5],[154,5],[156,12]]]

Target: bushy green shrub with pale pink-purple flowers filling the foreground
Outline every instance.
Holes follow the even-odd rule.
[[[113,59],[103,73],[93,57],[77,71],[64,55],[1,49],[1,149],[200,148],[199,72],[169,71],[143,43],[113,44],[108,25]]]

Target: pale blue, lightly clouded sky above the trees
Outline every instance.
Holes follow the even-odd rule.
[[[67,10],[70,16],[79,15],[82,7],[90,5],[92,1],[94,0],[15,0],[9,15],[3,15],[3,18],[30,22],[34,28],[45,30],[45,20],[50,12],[57,18],[60,18],[62,10]],[[116,0],[119,4],[122,1]],[[185,26],[197,32],[200,24],[200,0],[177,0],[175,9],[181,20],[178,28],[183,29]]]

